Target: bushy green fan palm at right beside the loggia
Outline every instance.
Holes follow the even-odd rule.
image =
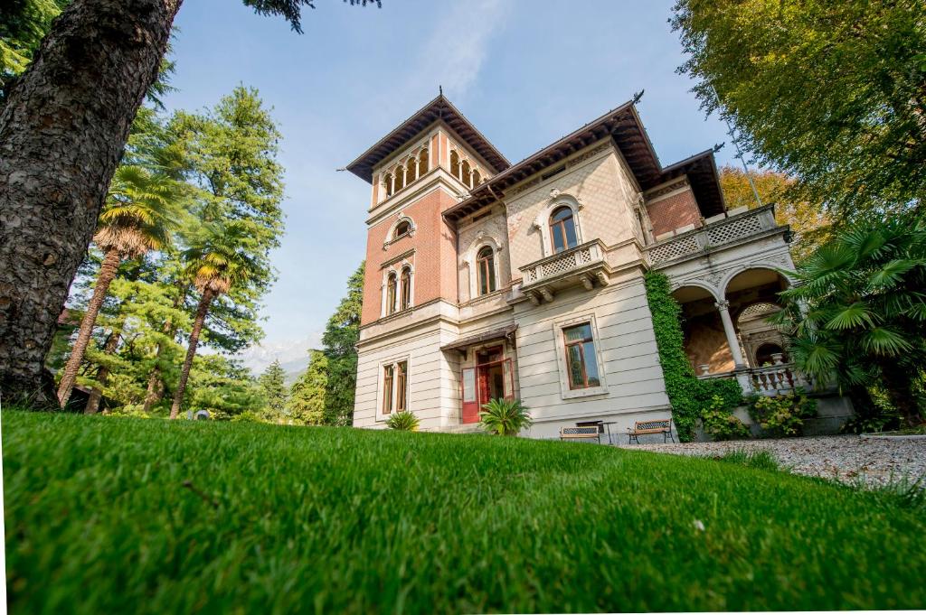
[[[926,226],[849,228],[814,252],[774,317],[797,367],[859,391],[880,380],[907,424],[921,421],[914,382],[926,365]]]

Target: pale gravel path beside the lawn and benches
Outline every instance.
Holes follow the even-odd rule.
[[[768,450],[795,474],[822,476],[849,484],[882,486],[899,480],[926,483],[926,438],[858,436],[793,437],[688,444],[619,445],[674,455],[716,456],[737,449]]]

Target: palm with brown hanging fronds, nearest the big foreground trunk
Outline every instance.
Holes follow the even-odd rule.
[[[58,385],[58,402],[62,407],[74,388],[96,316],[106,300],[109,284],[116,277],[119,264],[123,259],[137,258],[169,245],[171,231],[178,225],[182,193],[179,182],[144,166],[124,165],[116,170],[106,208],[100,214],[94,235],[94,242],[104,253],[103,264]]]

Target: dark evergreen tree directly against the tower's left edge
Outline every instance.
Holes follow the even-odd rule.
[[[321,337],[328,367],[325,385],[325,422],[349,425],[354,420],[357,389],[357,340],[363,304],[364,264],[347,280],[347,295],[328,320]]]

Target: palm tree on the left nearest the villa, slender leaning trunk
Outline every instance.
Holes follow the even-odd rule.
[[[190,377],[190,368],[193,366],[196,346],[206,322],[209,305],[232,288],[259,276],[262,264],[251,255],[255,247],[256,240],[248,232],[247,223],[236,220],[227,224],[204,225],[190,241],[189,248],[183,252],[183,260],[187,263],[187,275],[202,294],[196,307],[186,359],[183,361],[180,380],[174,391],[173,404],[170,406],[171,419],[180,416],[186,383]]]

